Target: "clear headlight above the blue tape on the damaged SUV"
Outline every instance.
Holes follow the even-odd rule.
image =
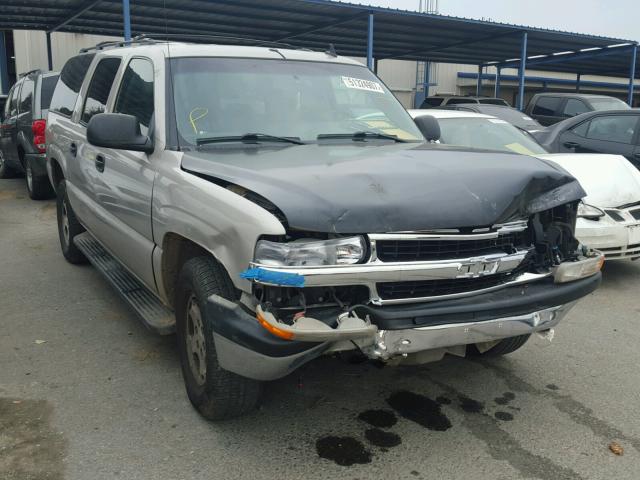
[[[256,245],[255,262],[274,267],[350,265],[362,260],[365,252],[366,244],[362,237],[289,243],[260,240]]]

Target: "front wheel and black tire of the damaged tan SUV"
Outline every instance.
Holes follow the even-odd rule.
[[[208,420],[243,415],[258,403],[262,383],[223,370],[213,340],[213,319],[207,298],[238,298],[226,271],[211,257],[188,260],[178,279],[175,296],[180,364],[187,395]]]

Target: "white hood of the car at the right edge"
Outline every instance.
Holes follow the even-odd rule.
[[[538,155],[573,175],[594,207],[619,207],[640,202],[640,171],[622,155],[551,153]]]

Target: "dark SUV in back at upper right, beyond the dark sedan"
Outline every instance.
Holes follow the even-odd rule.
[[[541,125],[549,126],[586,112],[630,108],[622,100],[607,95],[582,93],[536,93],[525,113]]]

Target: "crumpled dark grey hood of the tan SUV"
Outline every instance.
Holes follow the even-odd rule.
[[[585,195],[537,158],[431,144],[218,146],[185,152],[182,168],[251,190],[315,232],[490,226]]]

